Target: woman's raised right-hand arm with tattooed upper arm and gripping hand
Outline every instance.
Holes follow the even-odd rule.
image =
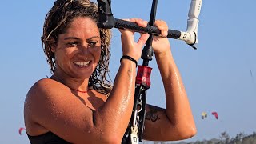
[[[155,25],[162,30],[162,36],[166,36],[166,22],[158,20]],[[153,49],[165,88],[166,109],[147,106],[144,138],[154,141],[190,138],[196,133],[194,118],[181,75],[171,54],[170,42],[167,38],[155,37]],[[155,97],[160,98],[159,95]]]

